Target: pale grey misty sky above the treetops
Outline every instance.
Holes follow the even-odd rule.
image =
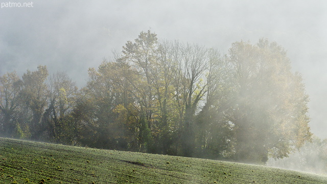
[[[260,38],[287,51],[310,96],[311,130],[327,139],[327,1],[0,0],[0,75],[38,65],[82,87],[89,67],[151,30],[159,39],[217,48]],[[30,3],[13,7],[8,3]],[[9,6],[9,7],[8,7]],[[11,6],[11,7],[10,7]],[[32,7],[33,6],[33,7]]]

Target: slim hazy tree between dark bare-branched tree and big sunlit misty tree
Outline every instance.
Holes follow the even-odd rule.
[[[233,154],[233,126],[226,117],[230,110],[230,64],[215,49],[208,50],[205,104],[196,116],[196,156],[213,159]]]

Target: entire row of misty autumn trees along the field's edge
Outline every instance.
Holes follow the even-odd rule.
[[[38,66],[0,78],[2,136],[265,163],[311,140],[308,95],[283,48],[260,39],[228,54],[141,32],[78,89]]]

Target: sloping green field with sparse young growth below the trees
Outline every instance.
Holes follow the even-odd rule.
[[[0,183],[327,183],[327,176],[0,138]]]

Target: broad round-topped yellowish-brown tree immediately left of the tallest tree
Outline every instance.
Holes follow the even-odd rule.
[[[138,105],[134,103],[137,90],[133,88],[138,81],[137,72],[122,59],[105,60],[98,71],[89,69],[89,81],[82,89],[83,106],[79,106],[80,110],[87,108],[93,117],[84,127],[94,132],[92,139],[87,139],[89,144],[139,151],[141,126],[137,123]]]

